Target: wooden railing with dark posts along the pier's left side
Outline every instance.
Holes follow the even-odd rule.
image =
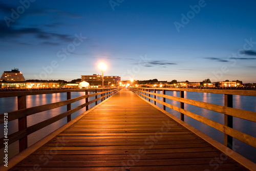
[[[110,97],[111,95],[115,94],[117,91],[119,91],[119,88],[99,88],[99,89],[70,89],[70,90],[43,90],[43,91],[14,91],[14,92],[1,92],[0,97],[13,97],[17,96],[17,104],[18,104],[18,110],[8,112],[8,121],[11,120],[18,120],[18,131],[14,132],[10,135],[8,135],[8,143],[11,144],[15,141],[19,141],[19,152],[22,152],[26,148],[28,148],[28,135],[32,134],[35,131],[38,131],[42,128],[45,128],[46,126],[55,123],[56,121],[67,117],[67,122],[71,120],[71,114],[82,109],[83,107],[86,107],[86,110],[89,109],[89,105],[92,103],[95,103],[95,105],[98,104],[98,100],[105,100],[106,98]],[[88,94],[88,92],[95,92],[92,94]],[[85,92],[86,95],[82,95],[79,97],[75,97],[71,99],[71,92]],[[35,106],[35,107],[26,107],[26,96],[27,95],[37,95],[37,94],[53,94],[53,93],[67,93],[67,100],[41,105],[41,106]],[[100,97],[98,97],[100,95]],[[95,96],[95,99],[92,101],[88,101],[89,97]],[[78,107],[75,107],[71,109],[71,104],[77,101],[80,101],[82,99],[86,99],[86,103],[79,105]],[[37,123],[35,125],[32,125],[30,127],[27,127],[27,116],[33,115],[38,112],[47,111],[50,109],[58,108],[61,106],[67,105],[67,112],[61,113],[59,115],[56,115],[52,118],[49,118],[47,120],[41,121],[40,123]],[[0,114],[0,124],[5,123],[5,113]],[[0,139],[0,142],[4,142],[5,137]],[[0,144],[0,149],[4,147],[4,144]]]

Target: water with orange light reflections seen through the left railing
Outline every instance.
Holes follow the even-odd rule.
[[[91,94],[93,92],[89,92]],[[85,92],[71,92],[71,98],[75,98],[81,95],[85,95]],[[89,97],[89,101],[94,100],[95,97]],[[27,95],[27,108],[39,106],[39,105],[45,105],[60,101],[67,100],[67,93],[54,93],[54,94],[37,94],[37,95]],[[71,109],[82,105],[86,103],[86,99],[80,100],[78,102],[71,104]],[[99,103],[99,101],[98,101]],[[89,109],[94,106],[95,103],[89,105]],[[5,97],[0,98],[0,113],[10,112],[17,110],[17,97]],[[46,119],[49,119],[51,117],[54,117],[60,113],[66,112],[67,106],[58,107],[55,109],[51,109],[44,112],[39,112],[30,116],[27,116],[27,126],[32,126],[34,124],[40,123],[41,121],[44,121]],[[82,108],[81,110],[72,113],[71,118],[75,118],[78,115],[82,114],[86,111],[86,108]],[[45,136],[49,135],[56,129],[60,128],[61,126],[65,125],[67,123],[67,117],[62,118],[55,123],[42,128],[30,135],[28,135],[28,146],[31,146],[33,143],[37,142],[41,138],[44,138]],[[1,124],[1,130],[4,130],[4,125]],[[8,134],[12,134],[14,132],[18,131],[18,121],[12,120],[8,122]],[[4,133],[0,135],[2,138]],[[13,157],[18,153],[18,141],[9,144],[8,146],[8,156],[9,158]],[[4,150],[0,149],[0,157],[4,157]]]

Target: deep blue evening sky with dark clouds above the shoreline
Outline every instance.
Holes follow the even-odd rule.
[[[0,1],[0,72],[255,83],[255,1]]]

